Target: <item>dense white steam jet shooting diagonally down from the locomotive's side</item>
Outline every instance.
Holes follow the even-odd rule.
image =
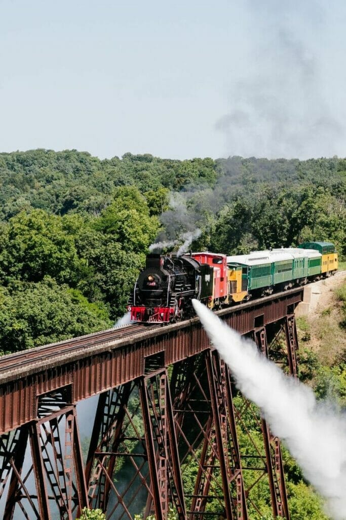
[[[346,419],[311,388],[286,376],[256,345],[229,329],[197,300],[193,307],[241,392],[260,407],[303,474],[326,499],[335,520],[346,518]]]

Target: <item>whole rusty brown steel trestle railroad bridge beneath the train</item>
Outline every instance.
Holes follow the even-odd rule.
[[[296,376],[302,289],[217,312]],[[78,402],[95,401],[88,443]],[[244,439],[247,449],[244,451]],[[249,448],[250,446],[250,448]],[[289,519],[280,441],[242,397],[197,318],[131,325],[0,358],[0,515]]]

